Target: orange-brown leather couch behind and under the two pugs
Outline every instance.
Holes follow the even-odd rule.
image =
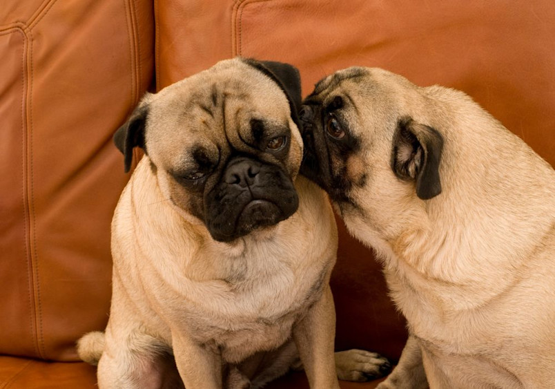
[[[108,317],[128,180],[111,136],[144,91],[236,55],[298,66],[304,95],[338,68],[379,66],[462,89],[555,164],[554,21],[552,0],[3,0],[0,388],[95,388],[75,341]],[[336,347],[396,359],[402,318],[339,223]]]

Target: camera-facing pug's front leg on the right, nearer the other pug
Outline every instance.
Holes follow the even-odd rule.
[[[333,355],[335,307],[327,285],[322,297],[293,328],[293,340],[311,388],[338,389]]]

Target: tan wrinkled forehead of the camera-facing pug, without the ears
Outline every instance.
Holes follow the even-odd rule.
[[[291,131],[291,108],[300,101],[291,100],[284,86],[248,62],[217,64],[150,101],[146,151],[153,161],[175,167],[193,157],[184,150],[204,149],[207,158],[219,160],[231,151],[258,154],[280,136],[300,145],[298,131]]]

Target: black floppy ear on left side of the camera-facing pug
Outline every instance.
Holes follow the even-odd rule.
[[[131,116],[114,134],[114,143],[124,155],[125,172],[131,169],[133,160],[133,148],[138,146],[145,149],[144,145],[144,125],[148,115],[148,104],[141,103]]]

